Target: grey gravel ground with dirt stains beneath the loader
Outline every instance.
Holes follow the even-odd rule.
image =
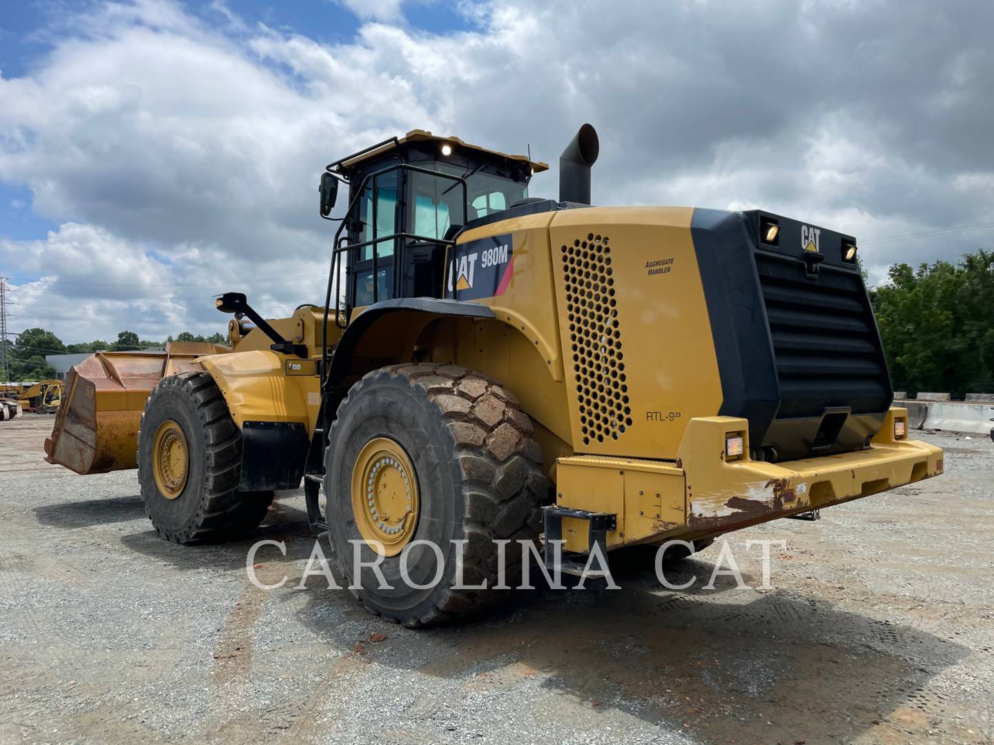
[[[41,458],[51,416],[0,423],[0,741],[994,742],[994,444],[925,433],[939,479],[728,536],[772,590],[519,592],[409,631],[296,590],[303,498],[248,540],[157,538],[134,472]],[[248,546],[262,591],[248,582]],[[710,575],[716,545],[673,581]],[[379,641],[377,641],[379,640]]]

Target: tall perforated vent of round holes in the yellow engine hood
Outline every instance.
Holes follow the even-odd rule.
[[[564,245],[567,313],[583,444],[616,440],[631,426],[611,249],[588,234]]]

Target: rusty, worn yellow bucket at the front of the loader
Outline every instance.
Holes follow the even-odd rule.
[[[136,468],[138,427],[152,388],[167,375],[201,370],[198,357],[226,352],[221,345],[171,342],[165,352],[87,357],[66,375],[45,460],[78,474]]]

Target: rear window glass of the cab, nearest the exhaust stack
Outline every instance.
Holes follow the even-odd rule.
[[[452,224],[466,224],[467,221],[506,210],[528,197],[527,184],[487,173],[486,166],[473,172],[476,165],[469,168],[467,175],[465,168],[448,163],[434,161],[423,164],[425,168],[466,180],[469,211],[465,217],[462,215],[462,186],[458,182],[422,173],[412,174],[415,235],[444,237],[445,231]]]

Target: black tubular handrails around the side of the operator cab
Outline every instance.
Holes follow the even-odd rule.
[[[381,143],[383,144],[383,143]],[[375,146],[374,146],[375,147]],[[354,157],[354,156],[353,156]],[[342,283],[342,271],[341,271],[341,256],[350,250],[358,250],[359,248],[365,248],[367,245],[373,246],[373,302],[377,302],[378,295],[378,285],[377,285],[377,246],[376,244],[385,240],[397,240],[402,239],[412,239],[417,241],[423,241],[428,243],[438,243],[439,245],[445,246],[445,254],[448,256],[448,248],[455,245],[455,240],[445,240],[444,238],[438,237],[428,237],[426,235],[417,235],[411,232],[395,232],[391,235],[384,235],[382,237],[377,236],[377,199],[378,188],[376,179],[384,174],[392,173],[393,171],[413,171],[414,173],[423,173],[427,176],[433,176],[435,178],[448,179],[449,181],[454,181],[457,185],[462,187],[462,215],[463,221],[465,221],[466,214],[469,211],[469,191],[466,187],[466,180],[461,176],[453,176],[452,174],[442,173],[441,171],[432,171],[429,168],[421,168],[420,166],[413,166],[410,163],[395,163],[386,168],[381,168],[379,171],[374,171],[372,173],[366,174],[362,182],[360,182],[359,187],[356,189],[349,201],[349,206],[345,211],[345,219],[338,225],[338,229],[335,230],[335,237],[332,240],[331,251],[331,269],[328,273],[328,286],[325,291],[324,296],[324,315],[321,319],[321,392],[324,393],[324,383],[327,380],[327,369],[328,369],[328,311],[331,306],[331,286],[332,278],[334,278],[335,284],[335,325],[340,329],[345,329],[349,325],[349,307],[346,304],[345,307],[345,318],[344,322],[340,318],[340,304],[341,304],[341,283]],[[346,225],[349,224],[349,216],[352,215],[352,211],[358,203],[363,192],[366,191],[366,186],[369,184],[370,180],[373,180],[373,237],[370,240],[364,240],[361,243],[353,243],[349,245],[340,245],[342,236],[342,230],[345,229]],[[395,251],[394,262],[397,263],[397,257],[400,251]],[[339,271],[335,271],[335,262],[339,262]],[[346,268],[348,268],[349,262],[346,257]],[[444,295],[444,288],[442,288],[442,295]]]

